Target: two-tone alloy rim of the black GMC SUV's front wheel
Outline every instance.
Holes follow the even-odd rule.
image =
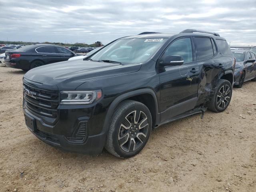
[[[122,121],[119,133],[118,143],[125,152],[137,150],[146,139],[148,134],[148,118],[140,110],[130,112]]]

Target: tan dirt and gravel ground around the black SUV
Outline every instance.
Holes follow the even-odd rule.
[[[57,150],[26,128],[25,72],[0,66],[0,192],[256,192],[256,82],[225,112],[160,126],[140,154],[118,159]]]

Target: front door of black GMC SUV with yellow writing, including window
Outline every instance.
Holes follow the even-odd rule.
[[[164,52],[164,55],[182,56],[184,64],[159,68],[162,122],[194,108],[199,67],[193,62],[193,49],[192,38],[186,37],[172,42]]]

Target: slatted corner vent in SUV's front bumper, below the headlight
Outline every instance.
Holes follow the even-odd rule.
[[[80,121],[72,137],[67,137],[67,139],[70,142],[76,142],[76,143],[84,142],[86,138],[86,132],[87,132],[86,128],[87,128],[87,122]]]

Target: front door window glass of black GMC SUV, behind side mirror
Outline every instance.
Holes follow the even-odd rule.
[[[165,55],[180,55],[183,57],[184,64],[193,61],[192,44],[190,38],[182,38],[174,41],[167,50]]]

